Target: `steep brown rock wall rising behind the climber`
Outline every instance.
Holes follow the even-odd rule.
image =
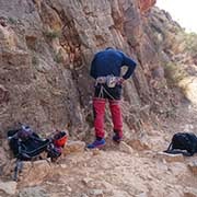
[[[165,109],[171,106],[157,45],[163,34],[157,32],[157,14],[149,16],[154,3],[0,0],[1,134],[21,121],[40,132],[68,128],[73,138],[83,138],[92,127],[90,63],[94,53],[107,46],[138,62],[124,88],[128,130],[142,121],[143,106],[155,112],[163,97]]]

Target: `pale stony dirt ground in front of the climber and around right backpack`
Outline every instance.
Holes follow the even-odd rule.
[[[197,155],[171,158],[160,152],[174,132],[197,134],[196,123],[196,107],[183,104],[175,117],[160,121],[160,132],[151,136],[154,149],[139,151],[125,142],[117,146],[107,141],[103,150],[67,155],[39,184],[28,187],[19,184],[18,194],[22,197],[195,197],[197,176],[189,166]]]

